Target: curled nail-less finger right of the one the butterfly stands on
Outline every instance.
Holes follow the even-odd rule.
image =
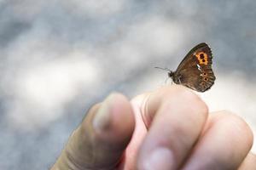
[[[252,144],[253,133],[240,117],[228,111],[212,113],[183,170],[237,169]]]

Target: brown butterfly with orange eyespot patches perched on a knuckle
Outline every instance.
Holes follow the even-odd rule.
[[[176,84],[182,84],[198,92],[205,92],[212,87],[216,77],[212,71],[212,50],[206,42],[192,48],[177,66],[176,71],[168,71],[168,77]]]

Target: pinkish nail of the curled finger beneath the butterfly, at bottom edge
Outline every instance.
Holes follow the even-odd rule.
[[[157,148],[144,159],[144,170],[170,170],[174,168],[172,151],[167,148]]]

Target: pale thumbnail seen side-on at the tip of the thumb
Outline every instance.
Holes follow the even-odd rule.
[[[96,113],[92,122],[96,131],[106,130],[110,124],[110,106],[113,94],[110,94],[107,99],[102,102],[99,111]]]

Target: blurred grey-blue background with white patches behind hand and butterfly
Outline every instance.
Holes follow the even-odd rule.
[[[200,94],[256,132],[256,1],[0,0],[0,169],[48,169],[85,111],[165,85],[199,42],[217,80]],[[255,146],[253,151],[255,152]]]

